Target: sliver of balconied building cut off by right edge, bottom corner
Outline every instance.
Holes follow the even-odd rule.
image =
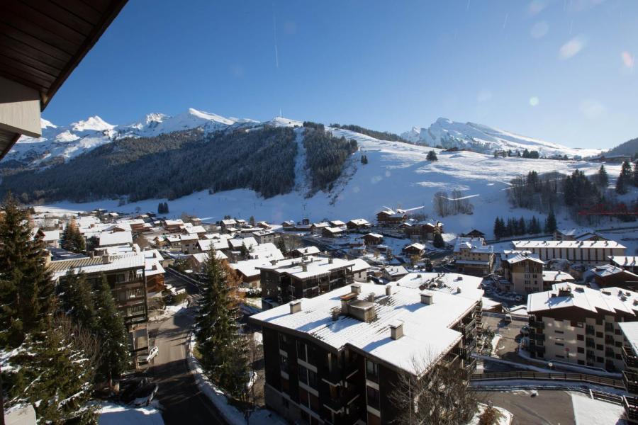
[[[622,407],[629,424],[638,424],[638,322],[623,322],[618,326],[624,336],[622,361],[625,370],[622,371],[622,380],[629,392],[628,396],[622,397]]]

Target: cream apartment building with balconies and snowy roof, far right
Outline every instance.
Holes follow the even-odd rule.
[[[619,324],[634,322],[638,293],[557,283],[527,297],[532,357],[622,370]]]

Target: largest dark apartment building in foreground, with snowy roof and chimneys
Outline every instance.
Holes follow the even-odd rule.
[[[401,373],[428,379],[435,365],[467,375],[476,367],[482,291],[470,293],[354,283],[255,314],[267,407],[291,422],[393,423]]]

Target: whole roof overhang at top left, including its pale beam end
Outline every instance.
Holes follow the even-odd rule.
[[[0,1],[0,159],[40,137],[40,112],[126,1]]]

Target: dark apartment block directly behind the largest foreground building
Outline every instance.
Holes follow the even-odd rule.
[[[273,259],[260,271],[265,309],[299,298],[311,298],[354,282],[354,261],[325,256]]]

